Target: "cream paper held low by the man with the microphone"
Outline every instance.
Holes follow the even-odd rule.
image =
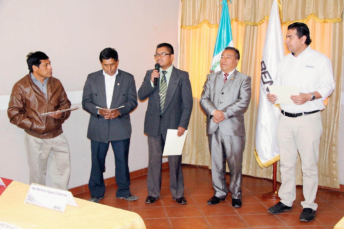
[[[162,156],[182,155],[187,130],[180,137],[177,136],[178,130],[167,129],[166,142]]]

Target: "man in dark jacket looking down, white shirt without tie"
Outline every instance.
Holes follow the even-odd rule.
[[[89,201],[98,203],[104,198],[103,171],[105,157],[111,142],[115,154],[117,198],[135,201],[137,196],[129,190],[130,176],[128,154],[131,136],[129,113],[137,106],[137,93],[133,75],[119,70],[118,54],[113,48],[105,48],[99,56],[103,70],[87,76],[83,93],[83,109],[90,113],[87,138],[91,140],[92,168],[88,182]],[[112,109],[106,111],[96,106]]]

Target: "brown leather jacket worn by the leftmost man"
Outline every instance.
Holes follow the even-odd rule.
[[[48,139],[62,134],[62,123],[69,117],[70,111],[64,112],[59,119],[51,116],[38,118],[40,114],[71,107],[60,80],[54,77],[48,79],[47,98],[33,83],[30,73],[24,76],[12,89],[7,110],[10,122],[37,138]]]

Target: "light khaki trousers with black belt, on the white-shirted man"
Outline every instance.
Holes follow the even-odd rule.
[[[318,207],[314,203],[318,190],[319,143],[322,134],[321,114],[291,118],[282,113],[278,119],[277,146],[280,153],[281,187],[278,196],[289,207],[296,198],[295,166],[298,151],[301,158],[304,201],[303,208]]]

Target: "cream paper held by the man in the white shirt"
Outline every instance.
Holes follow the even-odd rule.
[[[277,95],[277,100],[275,104],[289,104],[289,105],[296,105],[291,99],[290,96],[292,95],[300,95],[298,87],[290,87],[290,86],[268,86],[270,94]]]

